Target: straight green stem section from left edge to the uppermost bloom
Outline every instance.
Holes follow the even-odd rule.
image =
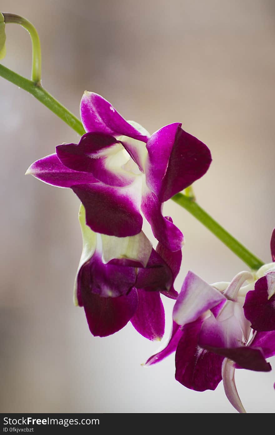
[[[85,130],[81,121],[76,118],[69,110],[66,109],[62,104],[60,104],[55,98],[52,97],[42,86],[38,86],[33,83],[33,81],[20,76],[9,68],[4,67],[0,64],[0,76],[9,80],[16,86],[21,87],[30,94],[33,95],[37,100],[44,104],[48,109],[60,117],[66,124],[68,124],[76,133],[82,136],[85,134]]]

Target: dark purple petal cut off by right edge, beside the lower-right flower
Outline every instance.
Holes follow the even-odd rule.
[[[274,272],[255,282],[255,290],[248,291],[243,306],[245,317],[256,331],[275,330],[275,294],[269,298],[268,287],[274,286]]]

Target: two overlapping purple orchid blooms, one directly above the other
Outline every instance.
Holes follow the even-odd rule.
[[[85,92],[80,114],[87,131],[79,144],[62,144],[27,174],[80,198],[83,253],[74,301],[84,306],[93,335],[106,336],[131,321],[149,339],[162,338],[160,293],[176,298],[183,235],[162,204],[202,177],[211,154],[174,123],[150,134],[126,121],[103,97]],[[142,214],[159,241],[142,232]]]

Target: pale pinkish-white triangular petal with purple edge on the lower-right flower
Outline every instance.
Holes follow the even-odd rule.
[[[222,301],[226,301],[222,293],[189,271],[174,306],[173,319],[179,325],[185,325]]]

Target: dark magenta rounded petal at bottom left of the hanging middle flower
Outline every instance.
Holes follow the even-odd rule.
[[[138,295],[135,289],[118,298],[102,298],[87,288],[82,292],[89,330],[94,336],[106,337],[122,329],[135,314]]]

